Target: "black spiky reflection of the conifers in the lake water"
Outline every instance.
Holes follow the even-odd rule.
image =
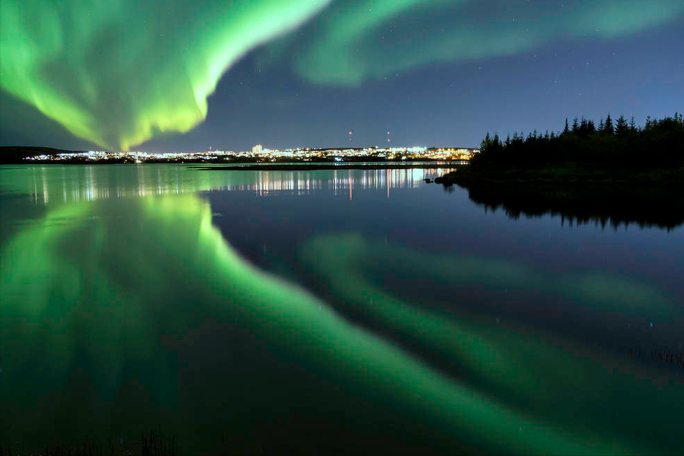
[[[610,225],[632,223],[640,227],[657,226],[675,228],[684,223],[684,201],[676,191],[651,191],[605,187],[570,189],[562,187],[535,187],[514,185],[470,185],[468,197],[485,209],[502,208],[511,219],[551,214],[566,219],[570,226],[595,223],[604,228]],[[451,187],[447,187],[451,188]]]

